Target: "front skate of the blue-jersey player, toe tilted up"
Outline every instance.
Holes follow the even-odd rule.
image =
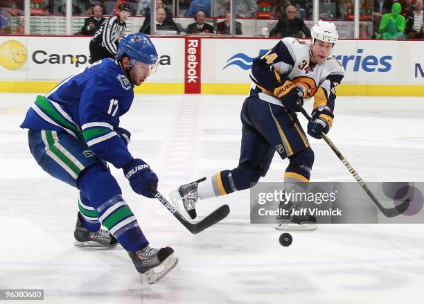
[[[145,276],[148,284],[156,283],[177,265],[178,258],[173,253],[174,249],[170,247],[154,249],[148,246],[136,252],[128,251],[137,271]]]

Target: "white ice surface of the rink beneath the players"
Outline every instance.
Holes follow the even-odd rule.
[[[46,303],[407,303],[421,298],[423,225],[321,225],[292,233],[284,248],[272,225],[249,224],[249,191],[198,204],[201,217],[229,204],[230,215],[191,235],[159,202],[123,197],[153,247],[169,245],[179,264],[145,284],[121,248],[73,246],[77,190],[47,175],[19,129],[35,94],[0,95],[0,289],[45,289]],[[179,184],[237,166],[243,96],[136,96],[121,119],[130,150]],[[310,109],[311,105],[307,105]],[[339,97],[329,136],[365,181],[423,181],[423,98]],[[306,120],[300,118],[303,125]],[[311,181],[352,181],[324,141]],[[261,181],[281,181],[274,157]],[[370,202],[371,204],[371,202]]]

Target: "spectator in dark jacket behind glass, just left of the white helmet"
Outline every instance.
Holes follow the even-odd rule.
[[[296,17],[296,7],[288,6],[285,9],[285,17],[280,19],[270,31],[270,37],[310,37],[310,30],[302,19]]]

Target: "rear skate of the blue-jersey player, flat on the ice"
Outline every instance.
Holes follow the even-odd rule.
[[[75,231],[73,232],[73,237],[75,246],[81,247],[110,247],[116,246],[118,240],[114,238],[112,234],[109,233],[107,229],[101,229],[96,232],[90,232],[87,228],[82,226],[81,215],[78,213],[77,223]]]

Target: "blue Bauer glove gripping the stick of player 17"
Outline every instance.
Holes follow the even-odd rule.
[[[123,166],[122,169],[135,193],[149,197],[150,199],[154,198],[153,193],[149,190],[149,185],[156,189],[159,180],[156,174],[150,170],[147,163],[141,159],[133,159]]]

